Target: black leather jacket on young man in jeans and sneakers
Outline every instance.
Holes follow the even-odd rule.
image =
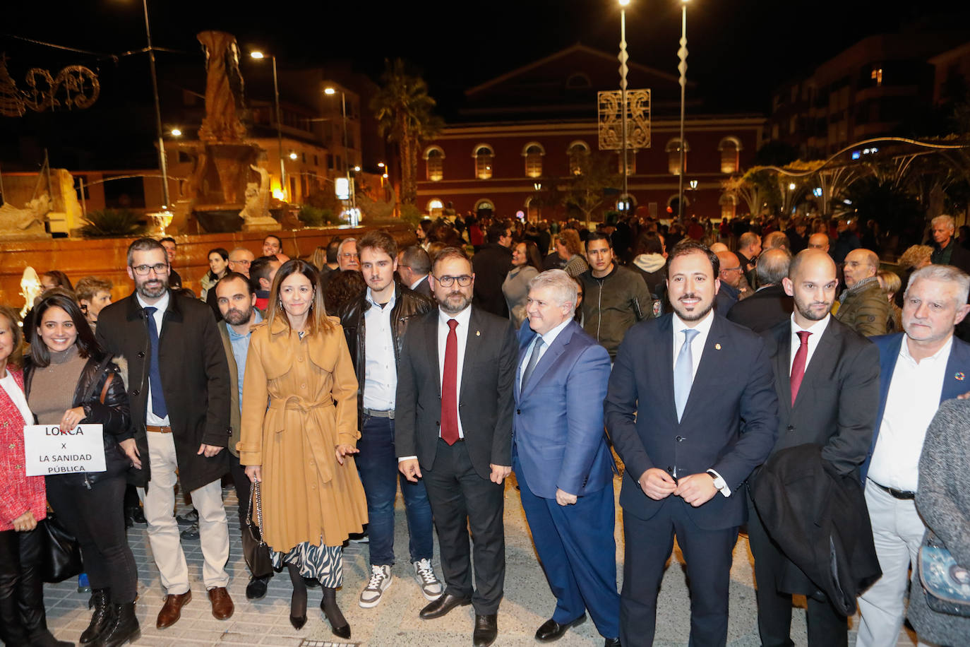
[[[367,291],[359,297],[350,300],[339,309],[340,325],[343,335],[347,338],[350,358],[357,373],[357,419],[361,420],[364,408],[364,378],[366,369],[366,354],[364,340],[367,334],[364,330],[364,313],[371,307],[367,300]],[[404,343],[404,331],[407,322],[412,317],[424,314],[435,307],[435,302],[428,297],[410,290],[395,280],[394,307],[391,309],[391,337],[394,340],[394,366],[397,368],[401,361],[401,346]]]

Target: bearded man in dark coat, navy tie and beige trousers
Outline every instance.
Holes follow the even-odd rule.
[[[229,525],[222,505],[222,475],[229,470],[229,366],[209,307],[169,289],[165,247],[139,239],[128,247],[128,276],[135,293],[101,310],[97,339],[128,360],[131,432],[129,455],[145,495],[148,541],[166,589],[159,629],[171,627],[192,598],[188,566],[175,518],[181,481],[199,511],[212,616],[226,620],[233,601],[226,591]]]

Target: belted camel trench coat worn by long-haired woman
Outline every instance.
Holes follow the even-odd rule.
[[[357,378],[340,330],[290,334],[284,321],[253,328],[242,382],[243,466],[262,466],[263,539],[287,552],[304,541],[339,546],[367,523],[352,456],[357,445]],[[255,512],[253,514],[255,517]]]

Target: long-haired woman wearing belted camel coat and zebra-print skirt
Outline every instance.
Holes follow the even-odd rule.
[[[306,624],[304,578],[316,578],[331,630],[349,638],[337,604],[341,547],[367,523],[353,460],[357,378],[318,285],[306,261],[287,261],[276,272],[266,321],[249,341],[237,447],[246,475],[261,483],[263,540],[274,566],[286,565],[293,582],[290,623],[298,630]]]

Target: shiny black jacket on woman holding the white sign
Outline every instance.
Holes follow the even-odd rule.
[[[29,361],[23,368],[24,396],[30,398],[30,385],[33,382],[36,367]],[[101,402],[101,391],[105,386],[108,375],[113,374],[112,383],[105,394],[105,402]],[[103,426],[105,442],[105,471],[87,472],[83,474],[59,474],[61,478],[77,479],[88,489],[99,478],[114,476],[125,472],[131,465],[128,457],[118,443],[130,438],[129,426],[131,413],[128,407],[128,391],[125,387],[121,372],[111,358],[101,361],[93,357],[87,358],[87,363],[81,370],[78,385],[74,390],[72,406],[84,407],[83,422],[100,424]]]

